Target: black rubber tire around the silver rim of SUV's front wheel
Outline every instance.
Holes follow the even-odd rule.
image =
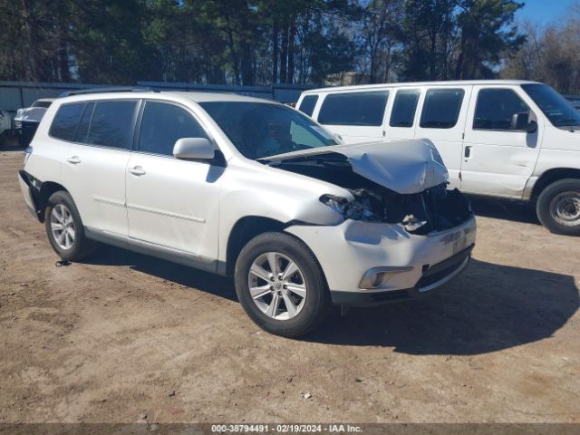
[[[280,253],[291,259],[304,275],[304,285],[307,289],[304,305],[298,314],[286,320],[267,316],[250,295],[248,282],[250,267],[257,258],[267,252]],[[250,240],[237,257],[235,281],[237,298],[244,311],[254,323],[268,333],[289,338],[304,335],[322,322],[330,311],[330,294],[316,257],[301,240],[289,234],[269,232]]]

